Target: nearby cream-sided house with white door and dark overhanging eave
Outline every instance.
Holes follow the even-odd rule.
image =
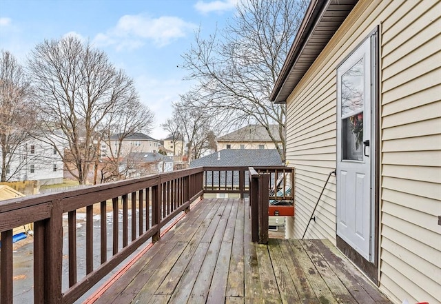
[[[273,92],[301,238],[336,244],[394,303],[441,303],[441,2],[311,1]]]

